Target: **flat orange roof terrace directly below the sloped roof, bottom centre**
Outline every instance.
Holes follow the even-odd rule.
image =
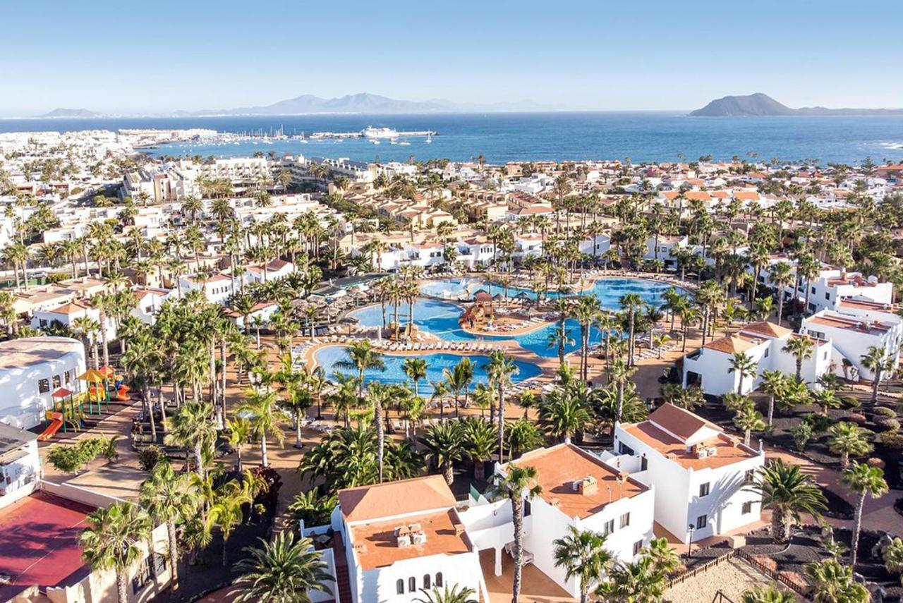
[[[445,483],[444,480],[442,483]],[[399,547],[395,530],[397,527],[410,524],[420,524],[426,542]],[[461,518],[454,509],[408,515],[403,519],[350,525],[349,532],[351,541],[358,545],[355,555],[364,571],[386,567],[396,561],[438,554],[456,555],[473,550],[470,538],[463,530]]]

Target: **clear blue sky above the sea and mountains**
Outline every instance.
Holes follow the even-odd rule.
[[[900,0],[5,0],[0,115],[371,92],[574,109],[903,106]]]

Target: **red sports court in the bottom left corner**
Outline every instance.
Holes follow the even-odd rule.
[[[79,533],[94,508],[35,492],[0,509],[0,600],[30,586],[69,585],[88,575]],[[4,580],[4,581],[5,581]]]

